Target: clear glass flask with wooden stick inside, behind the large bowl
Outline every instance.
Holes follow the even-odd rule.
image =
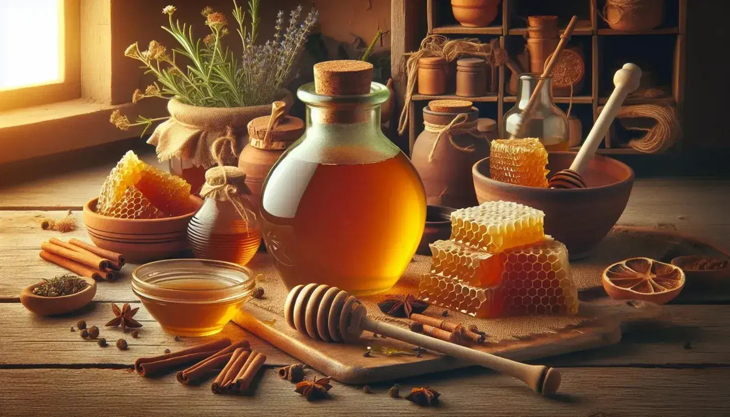
[[[539,74],[520,74],[520,85],[515,107],[504,114],[502,132],[505,139],[517,136],[517,129],[523,123],[522,112],[540,80]],[[526,120],[519,137],[537,137],[547,150],[568,150],[568,117],[553,103],[552,80],[545,79],[537,103]]]

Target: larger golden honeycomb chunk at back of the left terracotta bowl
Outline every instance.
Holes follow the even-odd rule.
[[[165,213],[164,217],[169,217],[195,210],[190,200],[190,184],[180,177],[145,164],[130,150],[101,185],[96,212],[101,215],[118,214],[120,207],[123,207],[120,203],[128,202],[130,187],[155,207],[154,213],[145,215]]]

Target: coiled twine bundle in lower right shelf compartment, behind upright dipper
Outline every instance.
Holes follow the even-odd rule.
[[[624,106],[618,111],[616,118],[650,118],[656,120],[650,128],[629,127],[626,129],[645,131],[644,137],[631,139],[629,146],[644,153],[658,153],[671,147],[681,133],[680,123],[672,107],[656,104],[638,104]]]

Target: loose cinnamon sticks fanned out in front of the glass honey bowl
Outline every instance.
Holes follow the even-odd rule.
[[[252,351],[246,340],[231,343],[226,338],[210,343],[186,348],[182,351],[164,355],[139,358],[134,361],[134,369],[139,375],[153,377],[188,364],[191,367],[177,372],[177,380],[185,385],[200,383],[220,370],[218,378],[212,383],[215,394],[240,394],[246,391],[258,370],[264,366],[266,355]]]

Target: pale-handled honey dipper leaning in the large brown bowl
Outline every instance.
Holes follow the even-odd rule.
[[[575,156],[573,163],[569,169],[558,171],[548,181],[550,188],[586,188],[585,180],[583,180],[583,172],[588,167],[588,162],[596,153],[598,145],[600,145],[608,128],[611,126],[616,114],[621,110],[621,104],[629,93],[639,88],[639,80],[641,80],[641,69],[634,64],[623,64],[613,75],[613,85],[615,88],[608,98],[606,105],[603,107],[601,114],[593,124],[591,132],[585,138],[585,142],[580,146],[578,154]]]

